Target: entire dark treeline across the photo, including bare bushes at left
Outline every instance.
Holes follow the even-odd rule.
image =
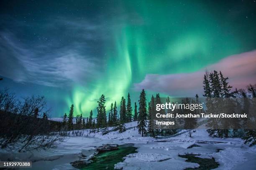
[[[203,80],[204,97],[207,99],[215,98],[239,98],[250,99],[256,97],[256,85],[248,85],[247,89],[239,89],[231,91],[232,86],[228,83],[228,77],[224,77],[222,72],[205,72]],[[166,129],[164,126],[154,126],[152,124],[152,117],[156,113],[156,104],[161,104],[161,97],[159,94],[153,95],[150,101],[147,102],[146,92],[143,89],[140,93],[137,102],[134,102],[134,107],[131,104],[131,96],[128,93],[127,100],[125,97],[121,97],[120,110],[117,110],[117,102],[111,103],[110,110],[106,110],[105,95],[101,95],[97,101],[97,116],[93,118],[93,112],[90,111],[90,116],[85,120],[82,114],[77,115],[74,118],[74,105],[72,104],[69,110],[69,114],[66,113],[63,116],[62,122],[54,122],[48,120],[48,112],[44,97],[32,96],[27,97],[23,101],[20,101],[14,94],[10,94],[8,90],[0,91],[0,146],[5,148],[8,145],[15,145],[16,143],[22,143],[20,151],[30,148],[42,148],[51,147],[56,142],[60,142],[63,138],[61,135],[67,135],[68,131],[90,129],[95,133],[100,130],[102,134],[108,133],[109,127],[114,127],[114,130],[118,130],[119,133],[124,132],[125,123],[131,121],[137,121],[138,133],[141,136],[156,137],[157,135],[173,135],[181,128],[179,125],[183,125],[182,128],[189,130],[189,136],[191,137],[190,130],[194,129],[197,125],[196,118],[190,118],[185,120],[172,120],[177,122],[171,129]],[[170,102],[167,97],[166,102]],[[195,101],[189,101],[188,98],[182,100],[182,103],[198,103],[198,95],[196,95]],[[208,108],[211,108],[210,102],[206,103]],[[223,105],[223,103],[222,103]],[[133,110],[134,108],[134,110]],[[252,104],[248,100],[244,100],[241,107],[244,111],[248,111],[249,108],[253,108]],[[108,112],[108,113],[107,113]],[[171,112],[167,110],[167,112]],[[179,114],[188,114],[191,110],[177,110]],[[165,114],[165,110],[160,111],[161,114]],[[197,110],[192,112],[198,114]],[[209,136],[218,138],[227,137],[241,137],[245,140],[245,143],[250,145],[256,144],[256,130],[235,128],[216,129],[214,124],[216,120],[212,119],[207,122],[207,132]],[[223,119],[223,124],[228,124]],[[54,133],[56,132],[56,133]],[[64,132],[63,134],[61,134]],[[66,133],[66,134],[65,134]]]

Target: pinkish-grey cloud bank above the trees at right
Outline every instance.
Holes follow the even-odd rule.
[[[256,50],[228,56],[197,72],[169,75],[147,74],[142,82],[134,84],[134,89],[139,91],[144,88],[175,97],[202,95],[205,70],[222,71],[224,76],[229,77],[233,89],[245,88],[249,83],[256,83]]]

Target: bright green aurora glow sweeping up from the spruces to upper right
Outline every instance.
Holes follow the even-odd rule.
[[[123,10],[133,10],[140,20],[123,20],[113,29],[113,42],[105,47],[108,55],[102,77],[92,82],[95,86],[88,92],[76,86],[72,97],[67,97],[68,105],[74,103],[79,108],[77,114],[95,109],[94,99],[101,94],[110,97],[108,107],[111,102],[119,103],[131,92],[133,82],[143,80],[147,73],[197,71],[246,48],[237,36],[226,34],[231,25],[223,29],[223,23],[207,11],[206,5],[160,1],[126,5],[122,4]],[[115,23],[115,18],[110,22]],[[138,97],[138,93],[133,94]]]

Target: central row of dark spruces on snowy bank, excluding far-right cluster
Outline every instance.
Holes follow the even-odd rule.
[[[198,99],[198,95],[196,95]],[[74,131],[82,129],[90,129],[91,132],[103,131],[103,134],[108,133],[109,127],[114,127],[114,130],[118,130],[122,133],[126,130],[125,123],[138,121],[137,129],[141,136],[151,136],[156,137],[156,135],[174,135],[177,133],[179,123],[172,127],[172,129],[164,129],[163,127],[156,127],[152,124],[152,114],[156,114],[156,105],[162,104],[160,94],[156,94],[156,97],[151,96],[150,102],[147,102],[146,92],[143,89],[139,96],[138,106],[134,103],[134,110],[131,105],[131,96],[128,93],[127,102],[124,97],[120,100],[120,110],[117,110],[117,102],[111,103],[110,110],[107,114],[105,106],[105,95],[101,95],[100,99],[97,101],[97,116],[95,119],[92,118],[93,112],[90,111],[90,116],[87,117],[85,121],[82,114],[77,115],[74,121],[74,105],[70,107],[69,115],[66,113],[63,116],[63,126],[64,130]],[[170,98],[167,97],[166,102],[170,102]],[[189,101],[188,98],[183,100],[182,103],[190,103],[195,101]],[[187,114],[188,110],[180,110],[181,114]],[[161,114],[165,114],[164,110],[161,110]],[[108,118],[107,118],[108,115]],[[95,122],[96,120],[96,122]],[[175,118],[174,118],[175,121]],[[184,128],[193,129],[197,123],[195,118],[188,120],[179,120],[180,124],[184,124]],[[183,122],[182,122],[183,121]]]

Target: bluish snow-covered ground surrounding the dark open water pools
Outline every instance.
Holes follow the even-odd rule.
[[[137,122],[126,124],[126,131],[118,133],[110,128],[106,135],[83,130],[82,137],[69,137],[63,143],[49,150],[18,153],[13,149],[0,150],[0,160],[32,160],[32,169],[69,170],[75,169],[70,162],[79,160],[81,155],[90,156],[102,144],[133,143],[138,153],[127,155],[115,168],[123,170],[183,170],[197,168],[199,164],[185,162],[179,155],[198,154],[200,158],[215,158],[218,170],[255,170],[256,147],[248,147],[239,138],[210,138],[201,128],[192,133],[192,138],[183,133],[172,138],[154,139],[141,137],[135,128]],[[192,147],[192,146],[197,147]]]

